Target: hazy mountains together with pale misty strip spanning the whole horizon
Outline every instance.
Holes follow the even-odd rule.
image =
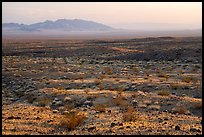
[[[82,19],[47,20],[30,25],[19,23],[2,24],[2,38],[121,39],[156,36],[202,36],[202,28],[192,30],[127,30],[116,29]]]

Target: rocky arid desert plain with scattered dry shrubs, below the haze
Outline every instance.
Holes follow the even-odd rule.
[[[2,134],[201,135],[202,37],[2,41]]]

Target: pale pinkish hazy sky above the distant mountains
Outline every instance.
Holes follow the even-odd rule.
[[[202,2],[3,2],[3,23],[84,19],[124,29],[202,28]]]

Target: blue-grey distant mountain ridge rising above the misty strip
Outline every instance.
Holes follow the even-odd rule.
[[[3,23],[2,29],[14,31],[41,31],[41,30],[63,30],[63,31],[108,31],[113,28],[93,21],[82,19],[58,19],[56,21],[46,20],[44,22],[30,25],[18,23]]]

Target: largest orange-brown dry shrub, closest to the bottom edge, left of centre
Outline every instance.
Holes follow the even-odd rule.
[[[82,124],[82,122],[86,119],[84,113],[73,112],[64,115],[64,118],[61,120],[60,125],[68,130],[74,130],[77,126]]]

